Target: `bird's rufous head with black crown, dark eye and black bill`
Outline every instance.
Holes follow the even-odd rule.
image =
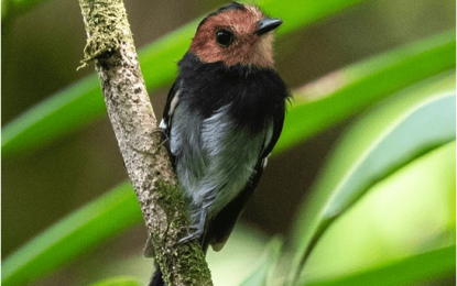
[[[255,6],[233,2],[200,22],[189,51],[203,63],[272,67],[271,31],[281,24],[280,19],[265,16]]]

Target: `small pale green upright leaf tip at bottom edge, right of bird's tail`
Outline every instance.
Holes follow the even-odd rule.
[[[240,286],[265,286],[272,285],[274,267],[281,254],[282,240],[273,238],[265,248],[259,267],[246,278]]]

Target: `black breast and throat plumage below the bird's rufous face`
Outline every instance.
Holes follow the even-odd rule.
[[[192,53],[179,62],[181,100],[203,119],[227,105],[238,128],[260,132],[283,114],[287,88],[273,68],[203,63]]]

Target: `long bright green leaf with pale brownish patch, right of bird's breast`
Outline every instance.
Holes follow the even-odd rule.
[[[445,70],[455,70],[455,31],[391,51],[331,73],[295,95],[274,152],[282,152],[330,125],[373,106],[404,87]],[[317,87],[316,87],[317,86]],[[316,96],[316,90],[333,91]]]

